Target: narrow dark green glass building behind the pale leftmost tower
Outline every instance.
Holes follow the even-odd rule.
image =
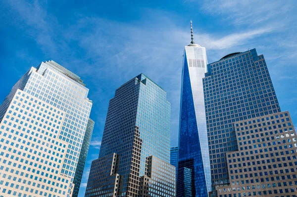
[[[94,124],[95,124],[94,120],[92,120],[90,118],[88,121],[88,124],[87,124],[87,129],[86,129],[86,133],[85,133],[85,137],[84,137],[84,141],[83,141],[83,145],[82,145],[82,150],[79,155],[79,159],[78,159],[78,163],[77,163],[77,167],[76,167],[76,171],[75,171],[75,176],[74,176],[74,181],[73,181],[74,190],[73,190],[72,197],[78,196],[78,192],[79,192],[79,188],[80,188],[80,184],[81,184],[81,180],[82,180],[83,172],[84,172],[84,168],[85,168],[85,163],[86,163],[86,159],[88,156],[88,151],[89,151],[89,147],[90,147]]]

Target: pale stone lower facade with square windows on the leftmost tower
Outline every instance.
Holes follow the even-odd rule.
[[[71,180],[61,176],[67,143],[58,139],[64,117],[61,110],[16,91],[0,123],[0,194],[67,195]]]

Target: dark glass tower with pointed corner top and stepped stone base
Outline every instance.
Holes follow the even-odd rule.
[[[109,102],[99,158],[91,165],[86,197],[174,197],[170,165],[170,103],[141,74]]]

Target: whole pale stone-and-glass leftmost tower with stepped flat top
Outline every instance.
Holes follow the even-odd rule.
[[[12,87],[0,106],[1,197],[72,197],[87,151],[88,92],[53,61],[32,67]]]

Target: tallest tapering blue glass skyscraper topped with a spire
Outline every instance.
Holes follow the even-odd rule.
[[[205,48],[194,43],[192,21],[191,36],[191,44],[185,46],[183,55],[177,187],[185,182],[185,176],[180,172],[187,172],[187,175],[191,172],[193,182],[191,191],[178,191],[177,197],[184,197],[186,193],[193,197],[208,197],[211,177],[202,83],[207,58]]]

